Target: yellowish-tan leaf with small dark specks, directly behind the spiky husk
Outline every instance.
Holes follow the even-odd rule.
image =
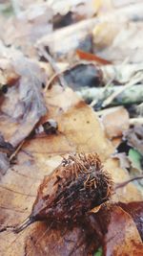
[[[47,92],[46,103],[49,113],[43,123],[52,118],[58,124],[58,135],[35,137],[25,144],[25,151],[39,153],[68,153],[72,151],[97,151],[102,160],[112,153],[112,144],[106,139],[104,131],[92,108],[80,100],[72,89],[54,86]]]

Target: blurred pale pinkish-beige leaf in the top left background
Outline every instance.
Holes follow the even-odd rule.
[[[34,57],[36,39],[52,31],[51,17],[52,11],[47,3],[33,4],[25,12],[19,12],[16,17],[6,19],[5,25],[2,24],[0,38],[6,45],[14,45],[27,56]]]

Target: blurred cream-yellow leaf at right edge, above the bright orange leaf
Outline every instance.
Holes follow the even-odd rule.
[[[141,62],[142,31],[142,23],[116,22],[116,17],[100,22],[93,30],[95,54],[115,62]]]

